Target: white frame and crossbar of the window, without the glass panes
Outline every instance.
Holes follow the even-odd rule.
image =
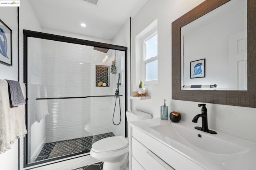
[[[158,60],[158,54],[154,57],[150,57],[149,59],[146,59],[146,41],[150,38],[154,37],[155,35],[158,35],[157,26],[150,30],[146,35],[144,35],[141,38],[141,47],[142,47],[142,57],[141,57],[141,63],[142,63],[142,81],[144,82],[144,85],[157,85],[158,84],[158,75],[156,80],[150,80],[146,81],[146,63],[150,63],[152,61]],[[158,46],[157,46],[158,48]],[[158,71],[158,66],[157,66]]]

